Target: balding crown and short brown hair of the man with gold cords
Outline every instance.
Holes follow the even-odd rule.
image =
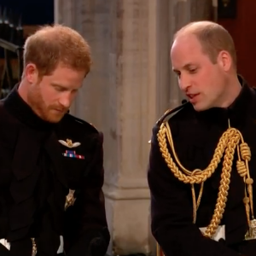
[[[185,34],[194,34],[202,46],[202,50],[212,61],[216,63],[218,54],[221,50],[227,51],[236,67],[236,48],[230,33],[221,25],[208,21],[190,22],[183,26],[174,35],[174,40]]]

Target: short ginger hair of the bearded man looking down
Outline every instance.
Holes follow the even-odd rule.
[[[53,73],[59,64],[87,74],[91,66],[90,46],[68,26],[43,26],[26,38],[23,61],[24,67],[35,64],[40,76]]]

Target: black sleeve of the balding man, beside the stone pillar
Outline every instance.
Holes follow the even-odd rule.
[[[154,127],[148,164],[151,230],[166,256],[239,256],[239,253],[201,234],[193,224],[188,189],[166,166]]]

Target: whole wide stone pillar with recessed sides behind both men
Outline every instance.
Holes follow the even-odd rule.
[[[92,70],[71,110],[104,133],[110,255],[155,253],[148,140],[160,115],[183,99],[170,47],[190,20],[190,1],[55,0],[55,22],[80,32],[92,51]]]

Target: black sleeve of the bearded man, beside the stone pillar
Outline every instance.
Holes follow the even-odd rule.
[[[84,177],[84,185],[73,206],[77,219],[71,221],[78,222],[79,234],[73,239],[74,242],[67,256],[103,256],[110,241],[102,192],[104,182],[102,133],[97,134],[93,141],[95,153],[90,165],[87,166],[88,175]]]

